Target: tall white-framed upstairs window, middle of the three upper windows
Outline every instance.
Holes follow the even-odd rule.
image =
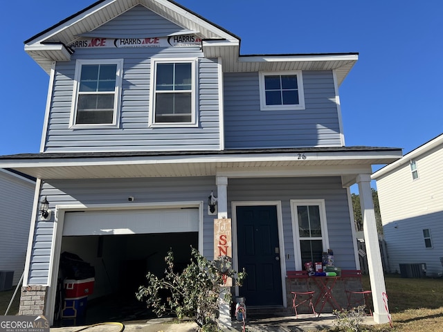
[[[197,124],[197,59],[151,59],[150,126]]]

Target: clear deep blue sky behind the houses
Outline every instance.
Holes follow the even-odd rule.
[[[48,75],[24,40],[93,2],[3,3],[0,155],[39,152]],[[339,90],[347,146],[406,154],[443,132],[441,0],[177,2],[239,36],[241,54],[360,53]]]

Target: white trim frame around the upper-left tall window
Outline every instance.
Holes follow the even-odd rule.
[[[112,123],[93,123],[93,124],[76,124],[75,117],[77,115],[78,93],[80,89],[80,78],[82,66],[84,64],[116,64],[116,86],[114,88],[114,113]],[[118,128],[120,124],[120,100],[123,81],[123,59],[78,59],[75,62],[75,75],[73,80],[73,93],[71,104],[71,116],[69,118],[70,129],[95,129],[95,128]],[[107,91],[110,93],[111,91]]]

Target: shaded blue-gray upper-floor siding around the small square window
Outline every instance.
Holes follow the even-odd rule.
[[[341,146],[332,71],[302,76],[304,110],[260,111],[258,73],[226,73],[226,149]]]

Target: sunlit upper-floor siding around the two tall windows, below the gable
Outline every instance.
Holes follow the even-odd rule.
[[[124,15],[140,17],[150,12],[138,6]],[[142,15],[142,16],[143,16]],[[145,35],[148,32],[165,34],[174,25],[156,26],[166,21],[152,12],[147,15],[145,28],[140,19],[114,19],[94,30],[114,34],[119,27],[125,34]],[[167,21],[166,21],[167,22]],[[154,29],[156,26],[157,29]],[[166,28],[162,28],[165,26]],[[175,32],[181,28],[175,26]],[[150,58],[199,57],[198,62],[198,127],[150,128]],[[101,129],[70,129],[71,103],[76,59],[124,59],[120,102],[119,126]],[[70,62],[57,62],[51,111],[44,151],[168,151],[168,150],[218,150],[219,142],[219,84],[218,60],[205,59],[198,47],[177,48],[77,48]]]

